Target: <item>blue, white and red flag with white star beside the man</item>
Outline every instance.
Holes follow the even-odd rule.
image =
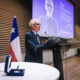
[[[12,27],[13,28],[12,28],[12,33],[11,33],[11,40],[9,44],[8,54],[12,55],[13,62],[22,61],[16,16],[14,16]]]

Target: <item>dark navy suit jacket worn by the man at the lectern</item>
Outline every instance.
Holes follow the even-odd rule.
[[[39,37],[40,39],[40,37]],[[42,44],[37,40],[33,31],[25,35],[26,54],[25,61],[42,63]]]

